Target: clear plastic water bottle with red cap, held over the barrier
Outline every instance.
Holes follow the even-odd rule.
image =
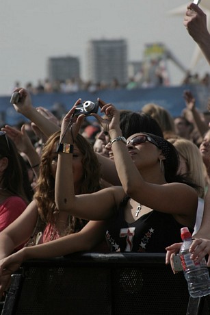
[[[179,255],[185,279],[187,280],[188,290],[191,297],[204,297],[210,294],[209,269],[205,257],[196,263],[190,258],[189,247],[192,244],[192,236],[187,227],[181,228],[181,246]]]

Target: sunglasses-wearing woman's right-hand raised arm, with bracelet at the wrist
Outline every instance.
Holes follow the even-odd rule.
[[[99,119],[105,131],[109,131],[111,140],[114,140],[112,142],[114,162],[124,192],[150,209],[174,215],[192,216],[192,211],[196,212],[198,200],[195,190],[181,183],[168,184],[164,177],[157,180],[153,173],[144,171],[135,164],[131,157],[132,153],[129,153],[132,148],[128,150],[123,141],[116,140],[116,138],[122,137],[118,110],[113,105],[107,104],[103,106],[101,111],[105,113],[107,119],[96,114],[94,116]],[[164,158],[161,152],[160,156]],[[143,173],[144,176],[142,176]],[[174,200],[173,203],[172,200]]]

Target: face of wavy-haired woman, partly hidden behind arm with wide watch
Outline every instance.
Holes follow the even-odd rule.
[[[56,147],[56,145],[55,145]],[[67,154],[67,153],[66,153]],[[51,173],[55,178],[56,168],[57,168],[57,152],[54,149],[53,153],[51,153]],[[82,164],[83,154],[77,148],[77,145],[74,144],[74,152],[73,152],[73,177],[74,184],[80,185],[81,180],[83,178],[83,164]]]

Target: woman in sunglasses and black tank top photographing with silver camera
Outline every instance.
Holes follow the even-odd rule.
[[[101,110],[107,118],[94,116],[109,131],[122,186],[75,194],[72,152],[83,115],[75,118],[73,113],[80,101],[62,122],[55,203],[60,213],[67,212],[90,222],[76,234],[26,247],[6,257],[0,262],[1,275],[16,270],[27,259],[90,251],[105,236],[110,251],[165,253],[166,246],[174,240],[181,241],[181,227],[193,230],[198,194],[188,185],[191,183],[187,178],[176,175],[179,166],[176,149],[167,140],[142,132],[124,140],[119,112],[111,104]]]

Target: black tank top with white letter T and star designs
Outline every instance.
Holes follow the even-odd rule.
[[[124,199],[116,216],[109,221],[106,239],[110,251],[166,253],[166,247],[182,242],[180,229],[183,225],[172,214],[153,210],[133,223],[127,223],[124,204],[128,199]],[[193,229],[189,228],[189,231],[192,233]]]

